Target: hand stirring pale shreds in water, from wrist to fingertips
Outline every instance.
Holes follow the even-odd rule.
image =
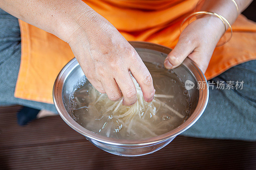
[[[108,20],[95,11],[88,18],[78,24],[67,42],[90,83],[113,101],[122,92],[123,104],[132,105],[137,93],[131,71],[144,99],[151,102],[155,94],[152,77],[138,53]]]

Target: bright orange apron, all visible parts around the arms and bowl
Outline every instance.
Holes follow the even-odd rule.
[[[198,0],[116,1],[84,0],[108,19],[128,41],[149,41],[174,48],[179,26]],[[19,20],[21,63],[16,98],[52,102],[52,87],[61,68],[74,57],[70,47],[56,36]],[[216,48],[205,73],[213,78],[230,67],[256,59],[256,24],[239,16],[231,41]]]

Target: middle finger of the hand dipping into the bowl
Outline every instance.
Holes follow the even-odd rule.
[[[124,96],[123,104],[126,106],[133,105],[137,101],[137,91],[129,71],[123,71],[115,79]]]

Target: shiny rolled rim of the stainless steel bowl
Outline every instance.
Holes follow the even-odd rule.
[[[144,42],[144,41],[129,41],[131,44],[132,43],[139,43],[141,45],[143,44],[148,44],[150,46],[158,46],[158,47],[162,47],[162,48],[168,48],[159,44],[154,44],[154,43],[150,43],[150,42]],[[142,44],[143,43],[143,44]],[[171,48],[168,48],[169,50],[172,50]],[[206,81],[205,87],[203,90],[199,91],[199,93],[202,96],[201,100],[199,98],[198,100],[198,104],[196,106],[195,111],[191,114],[191,116],[187,119],[187,121],[185,121],[184,123],[182,123],[179,127],[171,130],[170,132],[167,132],[163,135],[157,136],[157,137],[150,137],[150,138],[145,138],[145,139],[140,139],[140,140],[125,140],[125,139],[114,139],[114,138],[109,138],[109,137],[104,137],[98,134],[95,134],[87,129],[85,129],[84,127],[82,127],[81,125],[79,125],[66,111],[65,107],[64,107],[64,103],[62,100],[62,87],[63,87],[63,82],[65,82],[66,78],[68,76],[66,76],[63,80],[63,82],[60,82],[60,79],[62,78],[63,74],[65,71],[67,71],[68,69],[70,69],[69,67],[76,62],[76,58],[71,59],[60,71],[60,73],[58,74],[54,85],[53,85],[53,102],[54,102],[54,106],[56,107],[58,113],[60,114],[60,117],[74,130],[76,130],[78,133],[84,135],[87,138],[96,140],[98,142],[104,143],[104,144],[109,144],[109,145],[126,145],[126,146],[134,146],[134,145],[149,145],[149,144],[155,144],[158,142],[163,142],[165,140],[168,140],[171,137],[175,137],[177,135],[179,135],[180,133],[182,133],[183,131],[185,131],[186,129],[188,129],[189,127],[191,127],[199,118],[200,116],[203,114],[207,103],[208,103],[208,98],[209,98],[209,88],[208,88],[208,84],[207,84],[207,80],[203,74],[203,72],[199,69],[199,67],[196,65],[195,62],[193,62],[191,59],[189,59],[188,57],[185,60],[189,60],[189,62],[196,68],[197,73],[199,74],[200,78],[202,79],[202,81]],[[73,68],[71,70],[69,70],[69,72],[72,72],[72,70],[74,68],[76,68],[76,66],[78,65],[78,62],[73,66]],[[69,73],[67,74],[69,75]],[[59,89],[59,86],[61,87],[61,90]],[[206,88],[206,89],[205,89]],[[60,92],[60,95],[58,95]],[[199,94],[199,96],[200,96]]]

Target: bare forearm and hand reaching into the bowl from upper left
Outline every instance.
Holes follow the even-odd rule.
[[[140,84],[144,99],[153,100],[152,77],[138,53],[112,24],[83,1],[2,0],[0,7],[68,42],[85,76],[110,100],[120,99],[122,91],[124,105],[136,102],[129,71]]]

